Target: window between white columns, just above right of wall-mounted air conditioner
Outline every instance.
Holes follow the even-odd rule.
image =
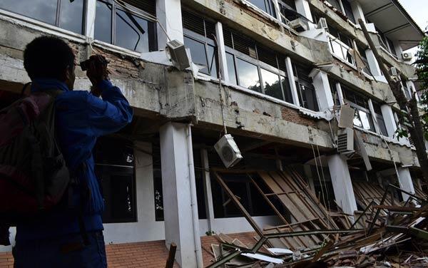
[[[342,86],[343,98],[352,108],[355,109],[354,125],[365,130],[375,131],[372,115],[369,108],[369,98],[349,88]]]

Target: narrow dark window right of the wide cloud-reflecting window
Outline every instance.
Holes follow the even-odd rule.
[[[293,69],[297,78],[296,87],[300,105],[309,110],[318,111],[317,94],[315,93],[315,87],[312,85],[312,78],[309,76],[312,68],[295,63],[293,64]]]

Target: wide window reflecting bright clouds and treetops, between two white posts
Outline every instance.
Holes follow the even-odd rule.
[[[223,35],[230,83],[292,103],[285,56],[230,29]]]

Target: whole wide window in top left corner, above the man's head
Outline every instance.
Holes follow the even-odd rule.
[[[83,33],[84,0],[1,0],[0,9]]]

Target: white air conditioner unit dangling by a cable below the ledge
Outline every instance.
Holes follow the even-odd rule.
[[[214,145],[215,150],[220,156],[226,168],[233,167],[238,163],[243,156],[240,154],[238,145],[233,140],[232,135],[226,134]]]

